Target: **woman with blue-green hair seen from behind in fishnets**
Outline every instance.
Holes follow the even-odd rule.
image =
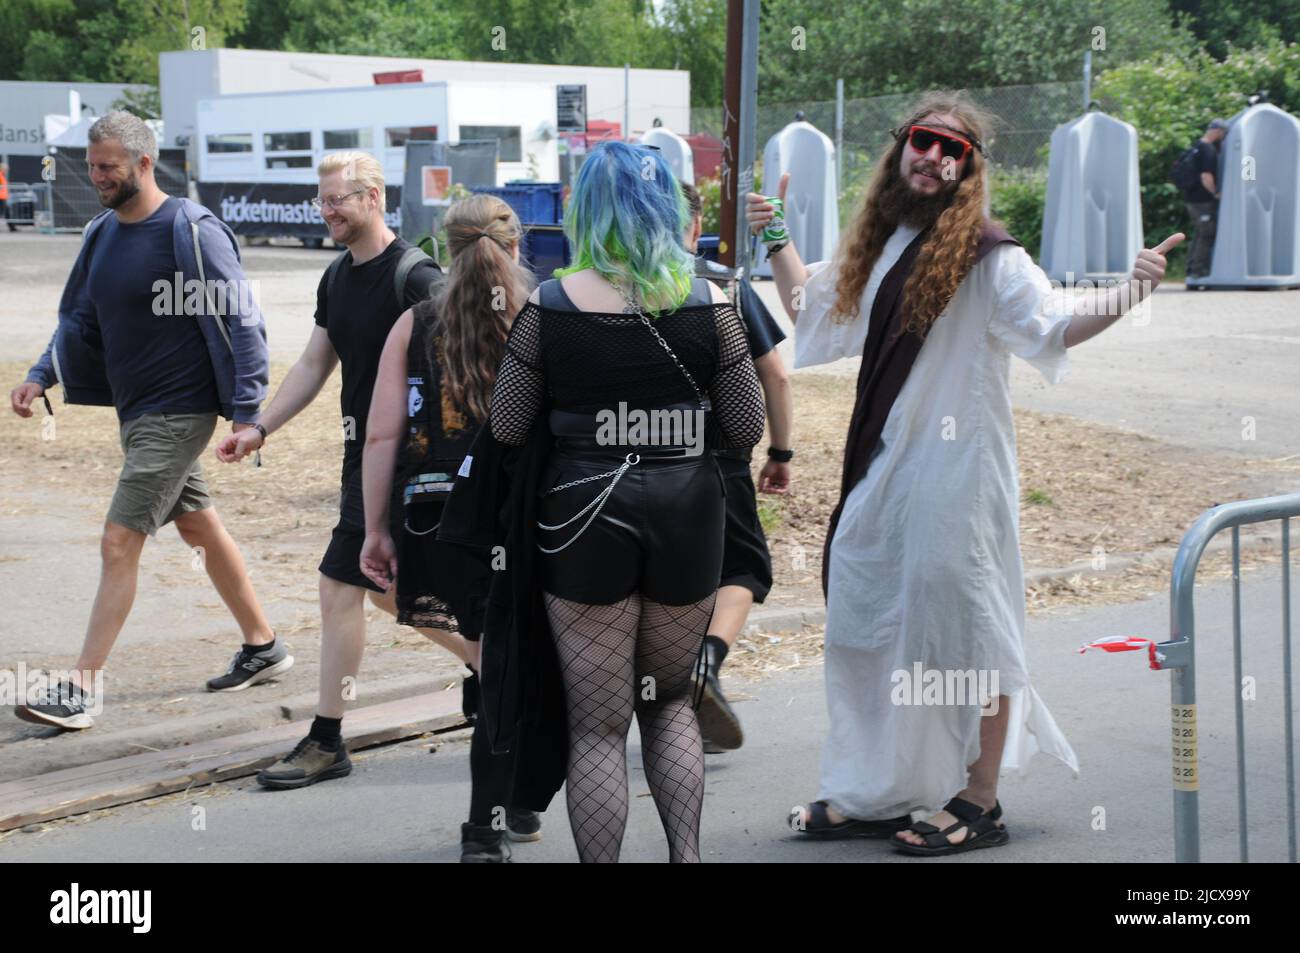
[[[543,411],[554,434],[538,547],[584,862],[619,858],[633,714],[670,859],[699,859],[703,751],[690,685],[722,572],[712,451],[757,443],[763,400],[738,315],[693,278],[686,221],[656,150],[593,150],[564,217],[573,265],[515,319],[493,395],[498,441],[525,443]]]

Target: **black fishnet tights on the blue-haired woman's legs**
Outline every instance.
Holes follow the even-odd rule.
[[[569,824],[584,863],[619,859],[633,711],[668,859],[699,861],[705,755],[690,676],[712,611],[714,595],[689,606],[664,606],[637,593],[612,606],[546,595],[568,699]]]

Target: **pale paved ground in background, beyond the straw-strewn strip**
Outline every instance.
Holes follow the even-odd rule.
[[[32,360],[44,348],[77,246],[74,235],[0,234],[0,361]],[[332,255],[244,250],[274,358],[292,360],[302,351]],[[758,289],[780,312],[775,286]],[[793,348],[784,347],[789,360]],[[1166,285],[1148,322],[1124,319],[1070,358],[1069,377],[1054,387],[1013,361],[1017,404],[1247,456],[1300,452],[1300,291],[1188,293]],[[857,360],[812,371],[853,376]],[[1245,438],[1252,420],[1253,438]]]

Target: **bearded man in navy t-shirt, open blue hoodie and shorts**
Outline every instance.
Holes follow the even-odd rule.
[[[30,417],[32,403],[57,377],[70,403],[117,410],[125,460],[104,523],[99,590],[81,657],[66,677],[17,707],[23,720],[68,729],[94,724],[87,693],[91,693],[87,680],[100,684],[135,599],[144,540],[168,523],[202,554],[243,633],[243,647],[208,688],[239,690],[294,664],[212,508],[199,464],[217,416],[231,417],[235,432],[251,428],[265,391],[266,337],[256,306],[229,302],[239,313],[228,325],[230,312],[213,313],[216,298],[191,295],[192,280],[186,278],[207,274],[221,285],[221,295],[233,290],[246,298],[233,237],[207,209],[159,189],[157,142],[142,120],[109,113],[88,138],[90,179],[112,212],[87,226],[60,302],[60,326],[27,381],[10,394],[14,412]],[[186,252],[183,263],[178,248]],[[46,407],[53,412],[48,399]]]

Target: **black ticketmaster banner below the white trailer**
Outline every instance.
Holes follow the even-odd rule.
[[[329,238],[320,212],[312,208],[315,185],[280,182],[199,182],[199,202],[230,226],[237,235],[266,238]],[[384,221],[402,228],[402,187],[387,186]]]

